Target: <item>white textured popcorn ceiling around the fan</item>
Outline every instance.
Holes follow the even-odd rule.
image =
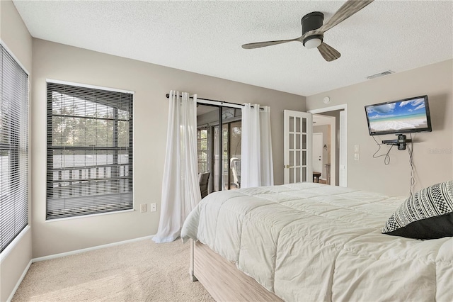
[[[344,1],[13,1],[34,38],[310,96],[453,57],[453,1],[374,1],[324,34],[341,57],[292,42],[301,18]]]

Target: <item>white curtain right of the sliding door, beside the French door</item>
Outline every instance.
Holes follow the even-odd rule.
[[[244,104],[241,137],[241,188],[272,186],[274,169],[269,107]]]

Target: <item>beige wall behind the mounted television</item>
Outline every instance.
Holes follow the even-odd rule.
[[[348,186],[378,191],[389,195],[407,195],[411,166],[408,152],[390,152],[391,162],[383,157],[372,158],[377,145],[368,134],[365,105],[405,99],[427,94],[431,112],[432,132],[413,135],[415,189],[453,179],[453,60],[390,74],[360,84],[308,96],[306,109],[321,108],[323,97],[331,104],[348,104]],[[378,141],[393,140],[395,135],[382,135]],[[354,145],[360,145],[360,160],[354,160]],[[388,150],[383,145],[379,154]]]

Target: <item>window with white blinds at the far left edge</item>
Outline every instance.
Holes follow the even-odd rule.
[[[1,252],[28,225],[28,74],[0,50]]]

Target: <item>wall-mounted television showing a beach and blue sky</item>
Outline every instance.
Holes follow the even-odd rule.
[[[428,96],[365,106],[369,135],[430,132]]]

